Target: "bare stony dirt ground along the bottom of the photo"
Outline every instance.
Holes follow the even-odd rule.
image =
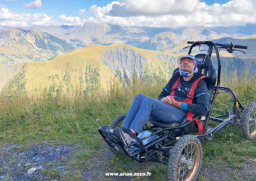
[[[103,150],[101,156],[90,157],[90,160],[96,163],[93,166],[84,162],[79,163],[77,152],[86,153],[88,150],[77,145],[54,144],[46,141],[30,145],[2,144],[0,145],[0,180],[65,180],[67,178],[131,180],[129,177],[105,177],[106,163],[112,157],[108,149]],[[77,172],[79,164],[81,170]],[[147,163],[144,163],[145,165],[147,167]],[[240,168],[230,168],[225,165],[227,164],[207,161],[207,165],[203,163],[200,175],[209,180],[256,180],[256,159],[247,158]],[[145,179],[141,177],[141,180]],[[149,177],[147,180],[154,179]]]

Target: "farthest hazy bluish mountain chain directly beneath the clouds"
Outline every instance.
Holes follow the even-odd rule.
[[[250,28],[250,30],[248,28]],[[255,28],[253,28],[255,27]],[[256,34],[256,25],[248,24],[245,27],[209,27],[202,25],[189,28],[159,28],[159,27],[134,27],[120,26],[113,24],[98,24],[86,22],[81,26],[60,25],[60,26],[43,26],[35,25],[27,27],[29,30],[43,31],[60,38],[61,40],[71,43],[76,48],[84,47],[85,45],[113,45],[125,43],[133,47],[147,48],[150,50],[163,50],[163,46],[148,48],[144,44],[150,42],[156,43],[157,39],[167,42],[178,43],[180,41],[189,40],[214,40],[223,37],[241,38]],[[164,34],[161,34],[164,33]],[[158,43],[158,42],[157,42]],[[142,45],[141,45],[142,44]]]

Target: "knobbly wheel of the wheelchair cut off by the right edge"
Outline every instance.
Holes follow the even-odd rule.
[[[242,133],[244,138],[248,140],[256,137],[256,102],[249,103],[244,110]]]

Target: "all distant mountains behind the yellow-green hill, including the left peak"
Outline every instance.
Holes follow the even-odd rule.
[[[250,25],[251,27],[253,25]],[[75,25],[35,25],[26,30],[10,27],[0,31],[0,63],[15,64],[28,61],[46,61],[56,55],[87,45],[126,44],[132,47],[157,50],[166,54],[186,52],[187,41],[211,40],[252,47],[255,34],[243,34],[241,28],[233,27],[231,33],[220,32],[221,28],[206,28],[202,25],[185,29],[122,27],[111,24],[86,23]],[[223,28],[225,31],[226,29]],[[253,33],[253,31],[251,31]],[[248,33],[248,32],[247,32]],[[248,35],[248,36],[246,36]],[[227,37],[228,36],[228,37]],[[228,39],[234,38],[234,39]],[[227,40],[227,41],[224,41]],[[254,57],[250,50],[246,57]]]

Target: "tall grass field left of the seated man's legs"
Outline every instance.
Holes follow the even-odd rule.
[[[53,97],[46,94],[40,98],[2,98],[0,141],[82,141],[90,143],[90,147],[102,148],[97,129],[127,112],[133,97],[139,92],[156,98],[162,85],[134,82],[124,89],[115,84],[109,93],[96,92],[88,96],[78,93],[82,96]]]

